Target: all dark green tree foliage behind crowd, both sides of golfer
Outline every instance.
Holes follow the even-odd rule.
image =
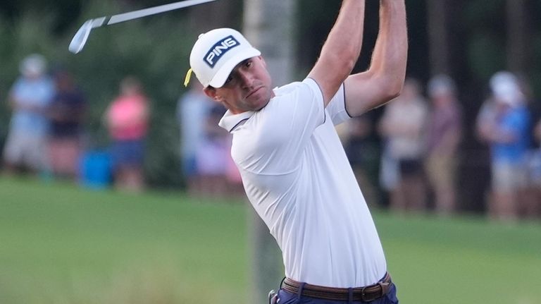
[[[426,0],[433,1],[433,0]],[[420,80],[430,77],[426,1],[406,1],[409,27],[408,73]],[[506,43],[509,0],[446,0],[449,4],[449,53],[452,76],[457,80],[466,119],[472,121],[487,90],[492,73],[507,68]],[[541,96],[541,0],[524,0],[528,8],[528,77],[535,95]],[[233,12],[206,16],[201,7],[189,18],[189,10],[180,10],[133,20],[129,23],[97,29],[77,55],[68,53],[68,43],[84,20],[111,13],[166,4],[168,0],[4,0],[0,1],[0,96],[5,99],[18,75],[18,63],[24,56],[39,52],[52,66],[72,71],[85,90],[90,107],[89,142],[104,147],[108,142],[101,115],[118,92],[125,75],[142,80],[152,99],[151,135],[147,178],[155,185],[176,185],[178,175],[178,125],[175,104],[184,92],[182,81],[188,68],[188,54],[200,30],[209,26],[242,24],[242,1],[228,0],[223,8]],[[225,2],[225,0],[223,0]],[[218,4],[218,2],[216,2]],[[321,46],[332,27],[340,1],[297,2],[297,79],[304,77],[317,60]],[[218,14],[220,16],[218,16]],[[206,19],[205,19],[206,18]],[[193,19],[197,19],[194,21]],[[234,19],[234,20],[233,20]],[[229,23],[227,23],[229,22]],[[205,29],[206,30],[206,29]],[[368,67],[378,32],[378,1],[367,1],[365,44],[356,71]],[[5,103],[4,103],[5,104]],[[534,105],[535,106],[535,105]],[[536,107],[536,106],[535,106]],[[10,116],[0,111],[0,142],[5,137]]]

